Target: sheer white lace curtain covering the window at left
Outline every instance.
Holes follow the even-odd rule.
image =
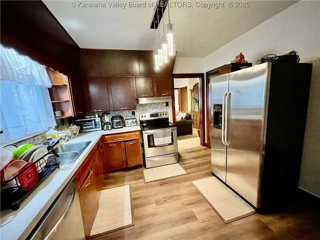
[[[0,142],[55,126],[45,67],[0,46]]]

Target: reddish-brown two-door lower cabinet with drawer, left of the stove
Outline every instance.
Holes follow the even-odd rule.
[[[142,165],[139,131],[110,134],[103,138],[105,161],[108,170]]]

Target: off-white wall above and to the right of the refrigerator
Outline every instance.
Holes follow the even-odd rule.
[[[254,64],[265,54],[281,55],[290,50],[298,51],[300,62],[313,63],[299,187],[318,197],[320,197],[319,13],[320,1],[299,1],[204,58],[204,72],[229,62],[240,51],[246,60]]]

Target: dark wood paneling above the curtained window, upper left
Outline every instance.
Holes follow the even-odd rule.
[[[80,48],[42,1],[0,1],[1,44],[67,74],[78,73]]]

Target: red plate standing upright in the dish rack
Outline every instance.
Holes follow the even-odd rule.
[[[21,172],[23,169],[26,170]],[[25,190],[30,190],[35,185],[38,181],[38,170],[33,161],[29,161],[20,167],[18,181],[22,187],[25,187]]]

